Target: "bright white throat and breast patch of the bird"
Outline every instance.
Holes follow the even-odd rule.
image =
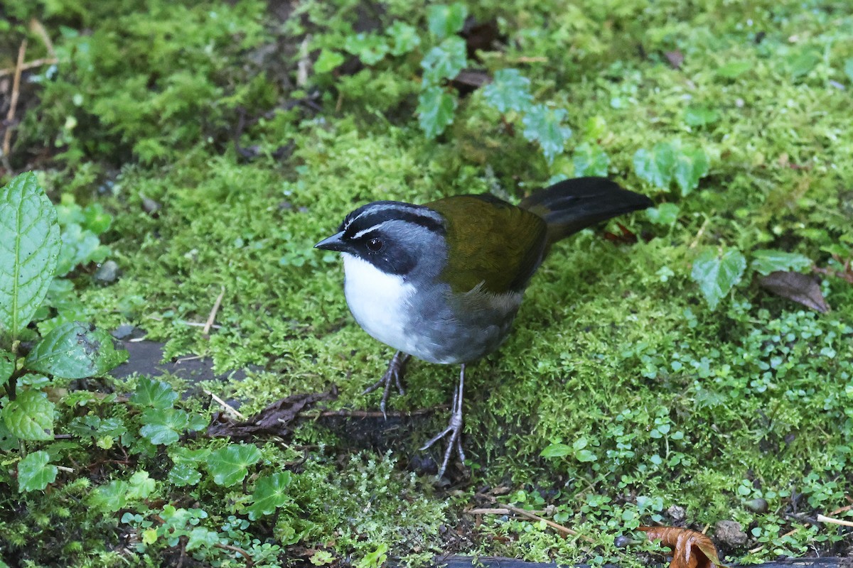
[[[346,303],[359,325],[371,336],[403,353],[412,353],[404,328],[415,286],[402,276],[383,273],[368,261],[344,253]]]

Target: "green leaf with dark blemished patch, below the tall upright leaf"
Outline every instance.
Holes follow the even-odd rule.
[[[24,365],[45,375],[66,379],[101,376],[127,359],[113,338],[89,324],[68,322],[51,330],[27,354]]]

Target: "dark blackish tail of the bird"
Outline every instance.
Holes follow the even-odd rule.
[[[652,207],[652,200],[606,177],[559,181],[532,193],[519,207],[548,223],[548,245],[617,215]]]

